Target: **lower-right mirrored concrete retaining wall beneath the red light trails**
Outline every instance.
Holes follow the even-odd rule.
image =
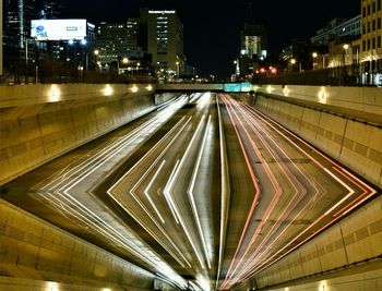
[[[335,271],[341,268],[355,266],[371,259],[379,260],[373,271],[377,281],[368,284],[361,276],[353,278],[355,284],[345,284],[342,288],[327,290],[382,290],[382,197],[374,199],[369,205],[350,215],[345,220],[338,222],[324,233],[318,235],[309,243],[305,244],[294,253],[287,255],[275,265],[255,276],[258,288],[266,288],[278,283],[318,276],[327,271]],[[372,263],[371,263],[372,264]],[[338,276],[338,275],[337,275]],[[322,278],[317,279],[317,281]],[[363,280],[363,281],[362,281]],[[357,289],[361,284],[362,289]],[[313,287],[317,288],[315,284]],[[311,289],[289,289],[289,290],[318,290]],[[305,287],[303,287],[305,288]],[[267,289],[276,290],[276,289]],[[277,289],[278,290],[278,289]],[[284,289],[280,289],[284,290]]]

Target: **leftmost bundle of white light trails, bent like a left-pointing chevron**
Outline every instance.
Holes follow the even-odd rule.
[[[180,99],[180,101],[176,101],[175,106],[170,106],[169,109],[164,109],[158,113],[158,116],[143,123],[127,136],[120,138],[117,142],[110,143],[110,145],[103,148],[102,150],[98,150],[98,153],[95,155],[85,155],[81,158],[83,161],[79,165],[73,165],[73,162],[57,174],[52,174],[48,179],[39,182],[34,186],[35,189],[40,189],[38,193],[45,194],[40,196],[40,198],[48,201],[48,203],[51,203],[56,207],[61,208],[70,216],[75,217],[79,222],[86,222],[86,225],[94,231],[98,232],[102,238],[105,238],[110,242],[115,242],[117,245],[121,245],[133,256],[136,256],[138,258],[152,266],[154,269],[158,269],[165,276],[171,278],[172,281],[177,281],[177,278],[180,277],[178,277],[178,275],[176,275],[176,272],[174,272],[174,270],[168,267],[167,263],[164,263],[160,258],[154,255],[154,253],[151,253],[148,250],[145,251],[146,247],[142,248],[142,244],[135,245],[134,242],[138,240],[132,239],[134,234],[131,230],[126,229],[129,232],[129,235],[127,235],[127,233],[120,233],[109,223],[105,222],[109,219],[105,219],[104,217],[100,218],[97,216],[92,209],[87,208],[83,203],[71,196],[69,191],[72,191],[74,187],[76,187],[77,184],[83,182],[85,178],[94,174],[102,166],[104,166],[106,162],[109,162],[110,159],[119,154],[122,149],[124,149],[127,146],[130,146],[140,136],[142,136],[142,133],[148,133],[150,131],[155,130],[155,124],[159,125],[160,123],[168,120],[180,108],[180,106],[182,106],[182,104],[184,104],[184,100]],[[47,181],[49,182],[47,183]],[[91,197],[91,195],[87,197]],[[69,204],[67,205],[67,203]],[[150,257],[153,257],[153,259],[148,259]],[[180,281],[183,282],[182,280]]]

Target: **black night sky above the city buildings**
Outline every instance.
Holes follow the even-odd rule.
[[[188,63],[201,74],[224,77],[232,72],[240,48],[240,29],[249,19],[249,0],[67,0],[67,17],[95,24],[138,16],[140,7],[177,10],[184,25]],[[359,0],[252,0],[253,17],[268,31],[268,51],[278,54],[288,40],[310,37],[333,17],[360,13]]]

